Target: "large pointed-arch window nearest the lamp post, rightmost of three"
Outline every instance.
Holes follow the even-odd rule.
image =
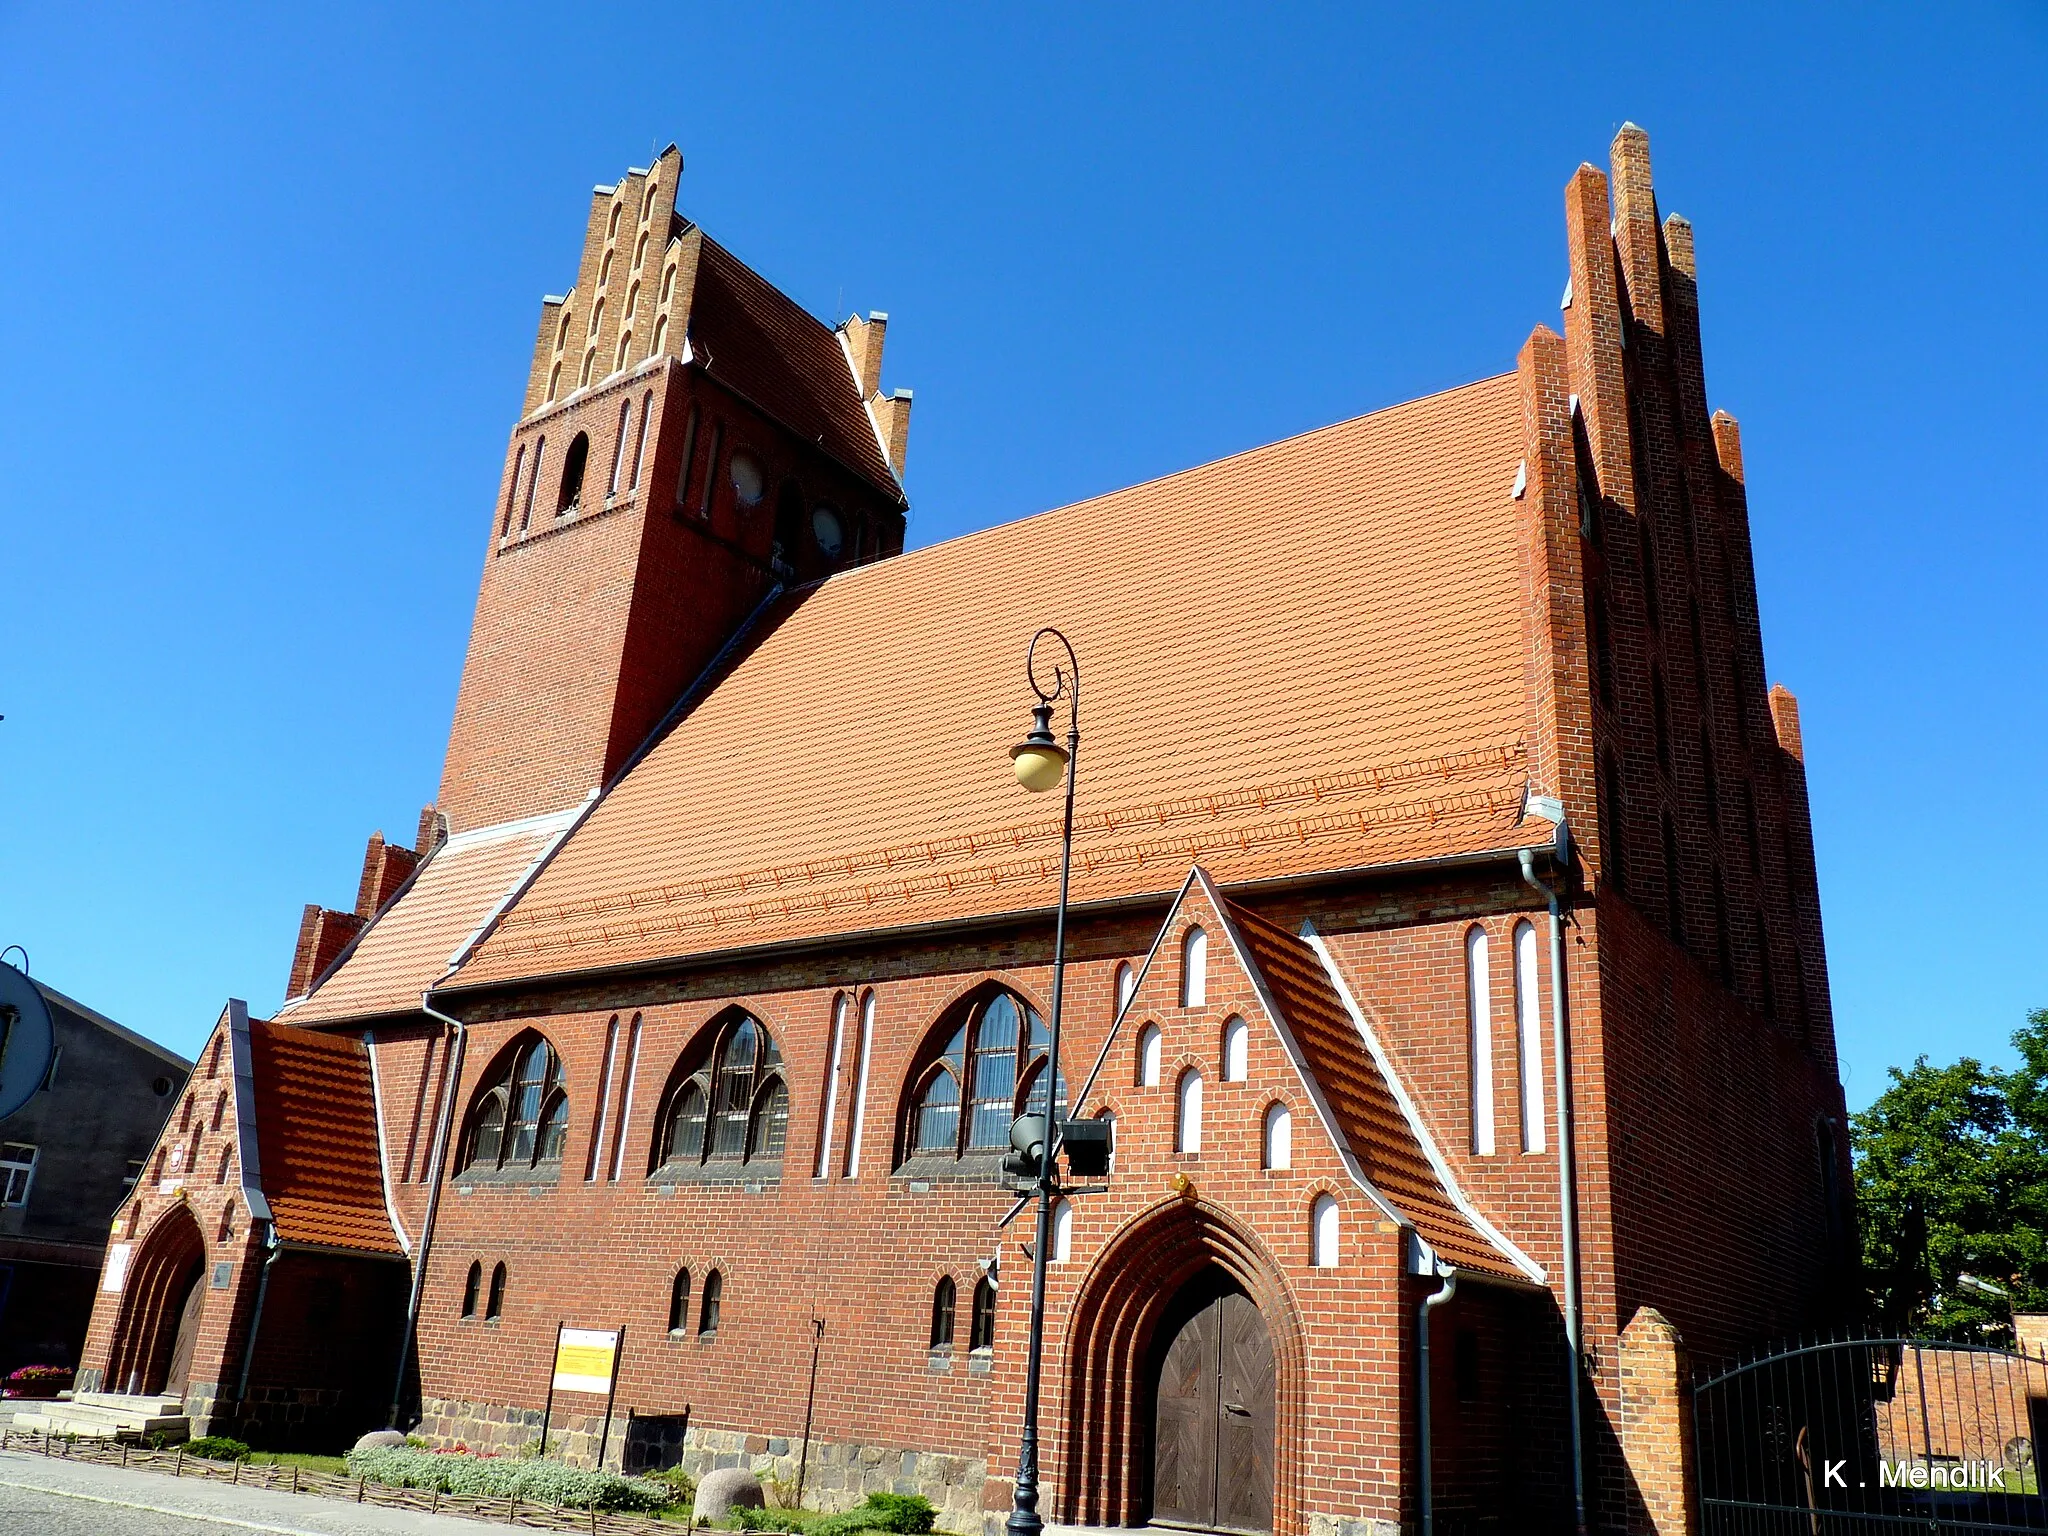
[[[961,1157],[1008,1149],[1010,1122],[1042,1094],[1036,1085],[1049,1044],[1044,1020],[1014,993],[991,991],[973,1004],[920,1079],[907,1151]],[[1063,1112],[1065,1075],[1055,1098]]]

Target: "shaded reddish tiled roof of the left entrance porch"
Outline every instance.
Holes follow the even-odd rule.
[[[250,1020],[262,1192],[287,1243],[397,1253],[371,1057],[352,1034]]]

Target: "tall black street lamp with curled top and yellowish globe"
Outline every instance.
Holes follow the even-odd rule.
[[[1053,686],[1038,682],[1038,641],[1053,639],[1067,666],[1053,666]],[[1038,1151],[1038,1241],[1032,1243],[1030,1335],[1024,1343],[1024,1434],[1018,1438],[1018,1483],[1010,1505],[1010,1536],[1038,1536],[1038,1376],[1044,1366],[1044,1266],[1053,1247],[1053,1157],[1059,1151],[1059,1006],[1067,981],[1067,877],[1073,870],[1073,754],[1081,745],[1081,664],[1057,629],[1040,629],[1024,653],[1024,676],[1038,694],[1030,733],[1010,748],[1010,768],[1032,795],[1067,784],[1067,817],[1059,840],[1059,907],[1053,918],[1053,1028],[1044,1059],[1044,1126]],[[1053,737],[1053,705],[1067,700],[1067,745]]]

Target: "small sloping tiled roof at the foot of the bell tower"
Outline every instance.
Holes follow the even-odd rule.
[[[342,963],[297,1001],[279,1010],[289,1024],[324,1024],[410,1014],[438,981],[455,950],[526,877],[573,819],[573,811],[463,831],[420,866],[412,885],[377,915]]]

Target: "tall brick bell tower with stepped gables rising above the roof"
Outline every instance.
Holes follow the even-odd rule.
[[[440,811],[580,803],[778,586],[903,549],[887,315],[838,330],[676,209],[682,154],[590,199],[541,301],[489,516]]]

